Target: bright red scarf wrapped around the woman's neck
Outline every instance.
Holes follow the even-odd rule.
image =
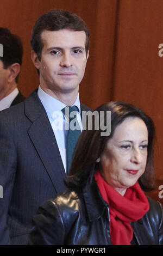
[[[142,218],[149,203],[138,182],[126,190],[124,196],[108,185],[99,171],[94,174],[102,198],[109,204],[110,237],[112,245],[130,245],[133,229],[130,222]]]

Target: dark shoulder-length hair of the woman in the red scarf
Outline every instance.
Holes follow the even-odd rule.
[[[148,117],[140,108],[130,103],[122,101],[112,101],[105,103],[95,109],[100,113],[104,112],[104,122],[106,123],[106,112],[111,111],[111,132],[109,136],[101,136],[100,125],[98,130],[83,131],[78,139],[76,150],[72,160],[70,175],[65,179],[65,185],[70,188],[76,186],[83,187],[87,181],[91,182],[93,174],[99,169],[96,160],[103,153],[106,143],[114,135],[115,129],[128,117],[138,117],[142,119],[148,130],[147,164],[143,175],[139,178],[139,184],[142,190],[149,192],[155,187],[155,171],[153,143],[155,138],[155,128],[153,120]],[[93,126],[95,127],[95,120]]]

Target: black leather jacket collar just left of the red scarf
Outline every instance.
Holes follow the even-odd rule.
[[[103,200],[94,178],[83,188],[83,195],[89,220],[97,220],[103,215],[108,203]]]

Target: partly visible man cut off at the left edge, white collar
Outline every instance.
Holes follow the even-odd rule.
[[[25,99],[17,89],[22,64],[23,46],[17,35],[0,28],[0,111]]]

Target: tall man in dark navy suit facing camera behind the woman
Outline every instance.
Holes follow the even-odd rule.
[[[35,23],[32,61],[39,89],[24,102],[0,113],[0,243],[24,245],[40,204],[65,190],[66,106],[81,115],[90,108],[79,101],[79,83],[89,56],[89,30],[77,15],[51,10]],[[1,188],[2,188],[1,187]],[[55,231],[55,230],[54,230]]]

